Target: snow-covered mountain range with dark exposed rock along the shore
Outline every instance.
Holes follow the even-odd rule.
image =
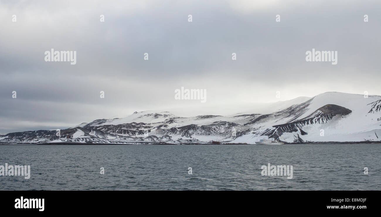
[[[2,143],[224,143],[254,144],[263,138],[288,143],[381,141],[381,96],[327,92],[261,108],[268,113],[179,117],[135,112],[61,130],[8,133]]]

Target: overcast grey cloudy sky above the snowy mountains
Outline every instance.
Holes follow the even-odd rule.
[[[226,115],[329,91],[380,95],[380,11],[379,0],[0,1],[0,132],[144,110]],[[77,51],[77,63],[46,62],[51,48]],[[338,63],[306,62],[312,48],[338,51]],[[206,89],[206,103],[175,100],[181,87]]]

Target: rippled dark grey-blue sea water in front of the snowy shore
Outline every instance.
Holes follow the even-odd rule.
[[[370,144],[0,145],[0,165],[31,167],[0,190],[381,190],[380,156]],[[268,163],[293,178],[262,176]]]

